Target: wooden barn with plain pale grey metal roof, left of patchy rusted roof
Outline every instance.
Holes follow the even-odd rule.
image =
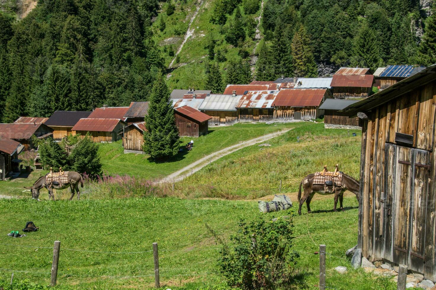
[[[199,110],[211,116],[209,125],[233,125],[238,122],[238,105],[242,95],[210,94],[201,103]]]

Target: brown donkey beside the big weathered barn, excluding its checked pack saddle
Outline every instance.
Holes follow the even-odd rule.
[[[306,201],[307,212],[310,213],[310,201],[312,200],[315,193],[319,193],[322,195],[333,194],[334,193],[334,208],[333,210],[337,212],[336,205],[337,199],[341,203],[341,210],[344,211],[344,207],[342,206],[342,201],[344,200],[344,192],[345,190],[349,190],[356,195],[356,198],[359,200],[359,182],[345,173],[342,173],[342,186],[327,186],[328,192],[325,191],[324,185],[313,184],[313,178],[315,174],[307,175],[300,183],[300,189],[298,190],[298,201],[299,208],[298,214],[301,215],[301,206],[303,202]],[[308,180],[306,184],[303,184],[304,180]],[[301,197],[301,186],[303,186],[304,194]]]

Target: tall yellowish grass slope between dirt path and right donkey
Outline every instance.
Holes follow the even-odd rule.
[[[358,136],[353,137],[352,132]],[[297,142],[299,137],[299,142]],[[176,184],[179,196],[258,198],[279,191],[295,192],[304,176],[340,170],[359,177],[361,133],[324,129],[324,124],[303,123],[267,142],[253,145],[220,158]]]

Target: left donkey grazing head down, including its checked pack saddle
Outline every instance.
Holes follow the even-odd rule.
[[[32,187],[24,188],[30,189],[32,192],[32,197],[38,199],[39,191],[44,187],[48,190],[48,199],[54,200],[53,189],[71,189],[70,200],[73,199],[75,192],[77,192],[77,199],[80,199],[79,183],[83,187],[82,175],[75,171],[62,171],[59,168],[59,172],[53,172],[50,168],[50,172],[46,175],[40,177]]]

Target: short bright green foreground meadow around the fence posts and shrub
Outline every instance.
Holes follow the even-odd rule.
[[[295,201],[294,201],[295,202]],[[340,275],[336,266],[347,266],[345,250],[357,241],[358,203],[344,198],[345,212],[331,212],[333,198],[314,200],[313,213],[294,218],[295,247],[300,258],[296,268],[300,276],[297,289],[313,289],[318,280],[318,245],[327,245],[327,286],[335,289],[382,289],[371,274],[350,270]],[[292,209],[292,212],[296,208]],[[21,246],[52,246],[61,241],[58,283],[81,289],[149,288],[152,277],[109,278],[106,276],[142,276],[153,274],[152,253],[113,254],[70,251],[69,249],[137,252],[151,250],[157,242],[160,249],[160,275],[163,289],[184,285],[198,289],[217,285],[218,246],[204,227],[208,223],[228,239],[240,218],[260,215],[255,201],[189,200],[189,199],[114,199],[68,202],[36,202],[30,199],[0,200],[0,268],[50,272],[51,249]],[[290,211],[269,213],[267,219],[289,215]],[[40,227],[26,237],[6,236],[21,229],[27,220]],[[5,244],[12,244],[9,246]],[[331,255],[330,255],[331,254]],[[82,275],[82,276],[81,276]],[[89,276],[86,276],[89,275]],[[102,277],[101,276],[105,276]],[[7,280],[10,271],[0,270]],[[49,274],[15,272],[16,280],[30,279],[42,285]],[[1,285],[0,285],[1,286]],[[391,288],[388,288],[391,289]],[[394,288],[392,288],[394,289]]]

